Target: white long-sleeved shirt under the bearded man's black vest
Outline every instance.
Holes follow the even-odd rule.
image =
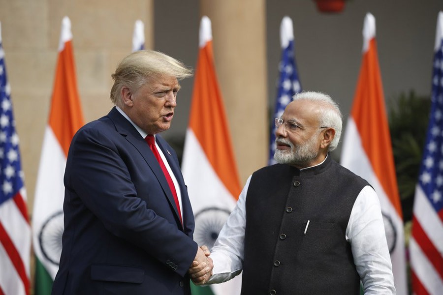
[[[236,207],[211,250],[210,257],[214,261],[214,269],[207,284],[230,280],[243,268],[245,204],[251,177],[246,181]],[[380,202],[371,186],[365,186],[358,194],[343,238],[351,245],[354,263],[364,286],[364,294],[396,294]]]

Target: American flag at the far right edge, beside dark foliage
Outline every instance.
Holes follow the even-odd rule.
[[[410,239],[413,293],[443,293],[443,13],[435,44],[431,114],[415,188]]]

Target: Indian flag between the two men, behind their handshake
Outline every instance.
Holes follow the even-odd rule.
[[[194,239],[212,248],[241,192],[212,52],[211,21],[200,23],[200,42],[182,172],[195,217]],[[241,276],[192,294],[240,294]]]

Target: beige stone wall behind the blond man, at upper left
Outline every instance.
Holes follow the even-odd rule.
[[[0,21],[22,169],[32,214],[43,134],[48,121],[63,16],[71,20],[77,87],[86,122],[112,107],[117,62],[132,50],[134,23],[154,47],[154,0],[0,0]]]

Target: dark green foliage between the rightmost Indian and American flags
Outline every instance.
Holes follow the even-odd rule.
[[[404,221],[411,220],[415,184],[418,180],[426,140],[431,99],[414,91],[391,99],[389,131],[391,133],[395,171]]]

